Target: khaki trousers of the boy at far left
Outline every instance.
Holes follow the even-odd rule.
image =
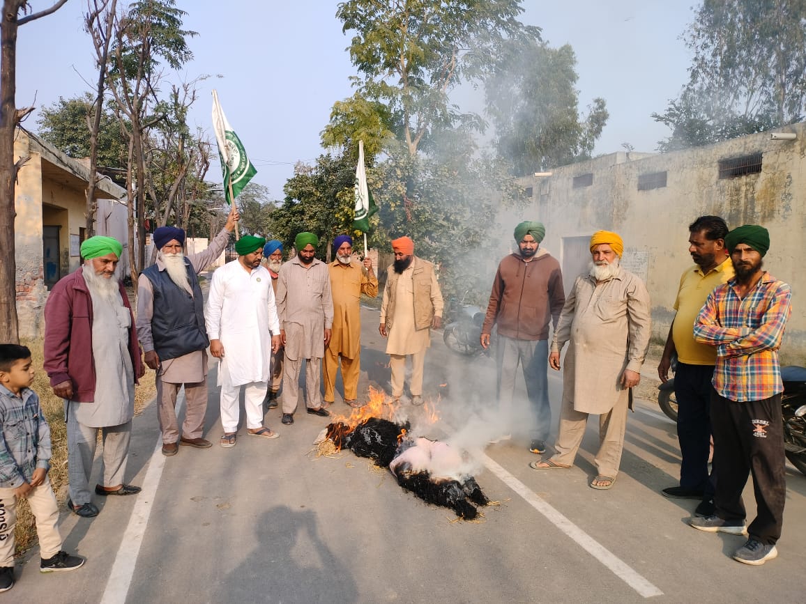
[[[26,499],[36,520],[39,557],[52,558],[61,550],[59,506],[50,478],[31,489]],[[14,489],[0,489],[0,566],[14,566],[14,527],[17,523],[17,496]]]

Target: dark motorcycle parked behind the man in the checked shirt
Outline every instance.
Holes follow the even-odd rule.
[[[676,363],[672,362],[672,370]],[[801,474],[806,475],[806,367],[781,367],[783,394],[783,446],[787,459]],[[675,379],[671,378],[658,387],[658,404],[669,419],[677,421]]]

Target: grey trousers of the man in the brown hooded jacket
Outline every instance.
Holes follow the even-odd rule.
[[[521,364],[526,396],[529,398],[526,409],[523,408],[524,405],[516,407],[514,401],[518,363]],[[517,428],[526,424],[528,419],[530,437],[546,441],[551,431],[548,340],[515,340],[512,337],[498,336],[496,366],[502,428],[507,432],[517,432]]]

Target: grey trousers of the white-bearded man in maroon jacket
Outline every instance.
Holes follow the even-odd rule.
[[[95,448],[98,445],[98,430],[101,430],[103,453],[101,456],[102,486],[123,484],[126,462],[129,458],[131,441],[131,420],[119,426],[91,428],[76,420],[76,405],[67,404],[67,463],[70,499],[76,506],[83,506],[92,500],[89,490],[89,476],[93,472]]]

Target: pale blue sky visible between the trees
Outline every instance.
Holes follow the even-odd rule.
[[[122,3],[123,0],[118,0]],[[50,0],[32,0],[34,10]],[[190,121],[210,126],[210,90],[218,89],[226,117],[239,134],[272,198],[283,197],[285,180],[298,160],[312,163],[323,150],[319,133],[334,101],[352,93],[355,74],[349,43],[335,19],[337,2],[327,0],[177,0],[187,11],[186,29],[194,59],[168,82],[210,79],[199,87]],[[521,21],[542,27],[553,46],[570,43],[580,74],[580,108],[594,97],[607,101],[610,119],[595,152],[654,151],[668,130],[650,117],[662,112],[687,80],[691,59],[679,36],[692,21],[688,2],[657,0],[525,0]],[[93,88],[93,48],[81,31],[84,0],[70,0],[55,14],[19,29],[17,106],[52,105]],[[222,77],[217,77],[217,76]],[[462,91],[468,109],[480,100]],[[37,114],[24,124],[37,130]],[[212,166],[208,180],[220,180]]]

